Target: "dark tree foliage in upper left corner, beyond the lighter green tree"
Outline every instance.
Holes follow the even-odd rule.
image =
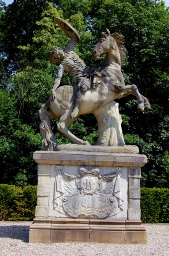
[[[18,45],[31,44],[36,21],[41,19],[41,12],[47,8],[45,0],[17,0],[5,8],[0,22],[0,52],[6,58],[3,61],[9,75],[15,72],[16,64],[22,58]]]

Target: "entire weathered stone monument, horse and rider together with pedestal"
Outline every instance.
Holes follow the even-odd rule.
[[[140,167],[147,158],[138,155],[137,147],[124,145],[119,104],[114,100],[132,94],[140,111],[151,106],[135,84],[125,86],[124,36],[108,29],[101,33],[92,57],[98,60],[105,54],[105,61],[97,70],[86,67],[73,52],[80,41],[77,31],[61,18],[57,23],[71,41],[65,51],[55,47],[50,52],[51,63],[59,59],[61,63],[50,100],[39,111],[43,151],[33,156],[39,164],[38,218],[30,227],[29,241],[145,243],[146,232],[140,227]],[[59,87],[64,71],[71,74],[73,86]],[[99,146],[91,147],[68,130],[87,113],[94,113],[98,121]],[[55,118],[60,118],[57,130],[74,145],[56,141],[50,126]]]

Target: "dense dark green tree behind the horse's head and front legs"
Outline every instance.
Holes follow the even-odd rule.
[[[68,10],[79,11],[79,7],[73,7],[74,2],[54,1],[66,17]],[[85,1],[80,4],[83,3]],[[140,113],[133,97],[119,100],[125,121],[124,139],[127,144],[138,145],[140,153],[147,155],[148,163],[142,168],[142,186],[168,186],[168,8],[164,1],[94,0],[87,1],[87,15],[82,6],[81,10],[92,32],[92,45],[106,28],[125,36],[126,84],[136,84],[150,100],[152,109]],[[93,64],[90,59],[85,61],[87,65]]]

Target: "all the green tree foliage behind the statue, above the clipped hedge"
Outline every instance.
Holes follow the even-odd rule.
[[[137,145],[148,163],[142,168],[142,186],[169,187],[169,10],[163,1],[147,0],[15,0],[0,1],[0,168],[1,182],[36,184],[32,156],[40,149],[38,109],[50,96],[57,66],[48,61],[50,49],[64,49],[69,38],[55,22],[68,19],[82,38],[75,52],[88,67],[100,67],[91,52],[101,32],[110,29],[125,36],[128,56],[122,67],[126,84],[136,84],[151,110],[140,113],[136,99],[119,100],[126,144]],[[10,77],[11,76],[11,77]],[[10,78],[9,78],[10,77]],[[61,85],[72,84],[64,74]],[[69,141],[57,134],[60,142]],[[71,125],[79,138],[96,143],[96,118],[81,116]]]

